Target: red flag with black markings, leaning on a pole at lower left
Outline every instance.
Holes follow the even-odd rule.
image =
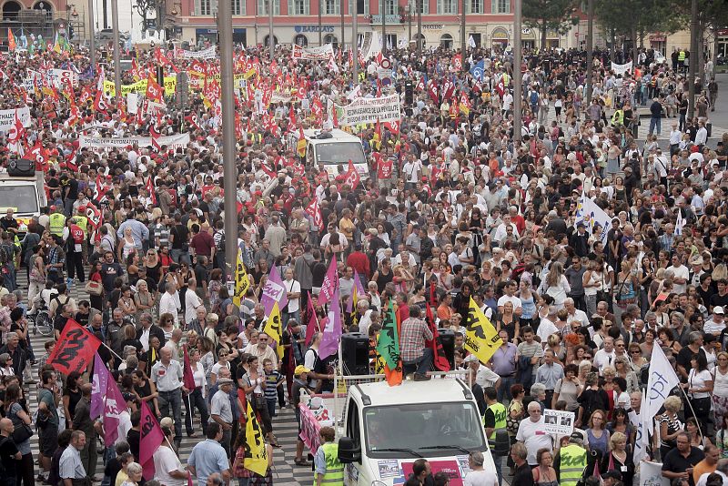
[[[71,371],[83,373],[91,359],[94,359],[94,353],[99,346],[101,341],[88,329],[83,328],[76,320],[68,319],[47,363],[65,375]]]

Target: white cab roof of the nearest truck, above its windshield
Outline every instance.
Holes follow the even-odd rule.
[[[397,387],[390,387],[387,381],[382,380],[351,387],[352,394],[369,396],[371,404],[375,406],[462,401],[465,400],[464,390],[468,390],[468,387],[463,387],[460,380],[452,378],[428,381],[404,380]]]

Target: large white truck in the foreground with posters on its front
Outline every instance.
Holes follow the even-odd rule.
[[[495,471],[478,405],[460,378],[404,380],[395,387],[384,380],[347,380],[347,389],[345,399],[323,400],[335,410],[322,425],[337,431],[348,486],[403,484],[420,458],[430,462],[433,474],[445,471],[450,485],[458,486],[470,471],[471,451],[481,451],[484,467]],[[301,420],[306,430],[303,413]]]

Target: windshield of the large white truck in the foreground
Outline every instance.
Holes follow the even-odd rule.
[[[439,457],[485,449],[478,411],[469,401],[368,407],[364,430],[371,458],[417,457],[402,450]]]

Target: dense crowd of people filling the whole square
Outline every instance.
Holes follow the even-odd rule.
[[[510,54],[483,48],[390,52],[389,88],[377,79],[381,57],[294,61],[278,47],[271,62],[263,47],[238,51],[255,74],[236,99],[238,190],[227,197],[221,122],[207,83],[189,93],[187,106],[167,95],[152,115],[147,105],[106,99],[97,86],[99,76],[112,78],[111,67],[99,56],[54,49],[5,56],[0,107],[28,106],[30,119],[5,134],[0,162],[7,167],[22,150],[35,157],[48,205],[26,228],[12,208],[0,218],[0,475],[25,486],[141,484],[146,402],[167,438],[146,484],[187,484],[188,475],[199,484],[271,484],[282,460],[276,416],[298,407],[301,390],[332,390],[344,358],[319,359],[320,332],[306,339],[308,300],[319,319],[328,316],[317,296],[336,258],[341,309],[355,276],[366,290],[343,316],[343,332],[369,336],[374,348],[392,302],[415,380],[428,380],[432,368],[427,306],[440,329],[454,332],[452,366],[470,374],[498,471],[484,471],[482,451],[471,451],[466,484],[490,486],[510,467],[515,484],[575,486],[596,464],[605,484],[632,486],[634,417],[655,346],[682,390],[655,418],[649,457],[675,484],[713,484],[714,474],[728,481],[728,136],[707,134],[717,84],[712,68],[688,79],[679,63],[659,64],[651,50],[623,75],[612,72],[607,51],[596,54],[590,102],[586,54],[577,50],[527,53],[522,93],[512,90]],[[170,60],[173,52],[159,48],[130,56],[124,84],[147,79],[153,65],[169,75],[217,66],[194,56]],[[480,61],[475,77],[470,68]],[[359,79],[350,77],[352,62],[361,63]],[[75,71],[78,82],[24,84],[30,70],[51,68]],[[451,90],[440,89],[447,83]],[[288,101],[270,103],[271,91]],[[369,158],[369,177],[357,187],[332,180],[296,144],[299,127],[338,127],[329,102],[346,105],[352,91],[396,91],[403,105],[399,126],[342,127],[360,137]],[[522,96],[522,113],[513,112],[513,96]],[[640,126],[644,108],[649,129]],[[521,134],[513,133],[514,116],[522,117]],[[672,117],[668,141],[662,119]],[[172,149],[79,143],[185,133],[187,146]],[[394,176],[379,179],[388,160]],[[606,234],[575,224],[581,197],[612,218]],[[314,199],[320,218],[308,210]],[[226,235],[223,213],[231,210],[238,230]],[[226,238],[237,238],[250,281],[239,308],[227,286]],[[26,293],[17,278],[24,268]],[[268,315],[259,301],[271,270],[288,300],[278,343],[263,332]],[[487,363],[464,347],[470,299],[502,340]],[[43,313],[55,339],[34,350],[27,317]],[[88,372],[61,376],[46,364],[70,319],[106,344],[98,353],[126,400],[112,447],[98,445],[108,431],[91,419]],[[185,354],[194,388],[183,380]],[[266,436],[266,474],[245,466],[248,403]],[[536,431],[544,409],[574,412],[574,433]],[[494,410],[505,410],[506,420]],[[502,430],[512,444],[507,460],[495,453]],[[200,441],[180,461],[183,434]],[[322,443],[332,440],[322,430]],[[313,474],[343,483],[325,479],[333,460],[329,449],[319,451]],[[297,475],[311,474],[302,441],[294,461]],[[447,483],[430,474],[428,461],[416,466],[410,486]]]

